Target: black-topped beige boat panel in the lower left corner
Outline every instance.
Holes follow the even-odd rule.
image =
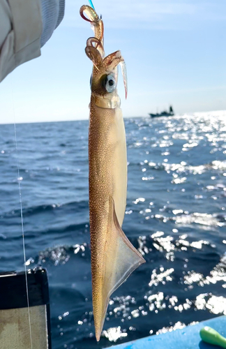
[[[46,269],[0,273],[0,319],[1,349],[52,348]]]

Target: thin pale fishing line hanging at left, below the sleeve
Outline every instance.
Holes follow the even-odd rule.
[[[22,244],[23,244],[23,252],[24,252],[24,271],[25,271],[25,282],[26,282],[26,292],[27,292],[27,309],[28,309],[29,331],[30,331],[30,341],[31,341],[31,349],[32,349],[33,346],[32,346],[32,334],[31,334],[31,316],[30,316],[30,306],[29,306],[29,289],[28,289],[28,282],[27,282],[26,252],[25,252],[25,239],[24,239],[24,218],[23,218],[23,208],[22,208],[22,193],[21,193],[21,186],[20,186],[20,165],[19,165],[19,156],[18,156],[18,147],[17,147],[17,128],[15,123],[15,107],[14,107],[14,99],[13,99],[12,77],[11,77],[11,92],[12,92],[12,102],[13,102],[15,149],[16,149],[16,158],[17,158],[17,176],[18,176],[18,185],[19,185],[19,196],[20,196],[20,217],[21,217],[21,228],[22,228]]]

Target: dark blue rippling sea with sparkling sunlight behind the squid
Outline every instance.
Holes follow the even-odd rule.
[[[226,315],[226,112],[125,119],[123,230],[144,255],[94,337],[88,121],[0,126],[0,270],[47,268],[54,349],[106,348]]]

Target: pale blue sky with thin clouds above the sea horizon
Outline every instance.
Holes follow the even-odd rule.
[[[93,0],[105,24],[105,52],[121,50],[128,70],[125,117],[172,103],[175,112],[226,109],[225,0]],[[86,1],[88,3],[88,1]],[[66,14],[42,56],[0,84],[0,123],[88,119],[92,64],[84,53],[93,35],[66,0]],[[13,101],[13,102],[12,102]],[[14,105],[14,107],[13,107]]]

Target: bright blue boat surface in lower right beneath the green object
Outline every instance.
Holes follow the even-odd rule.
[[[199,330],[204,326],[213,327],[221,335],[226,336],[226,316],[219,316],[199,322],[197,325],[176,329],[173,332],[119,344],[119,346],[114,346],[114,349],[220,349],[219,346],[213,346],[201,340]]]

